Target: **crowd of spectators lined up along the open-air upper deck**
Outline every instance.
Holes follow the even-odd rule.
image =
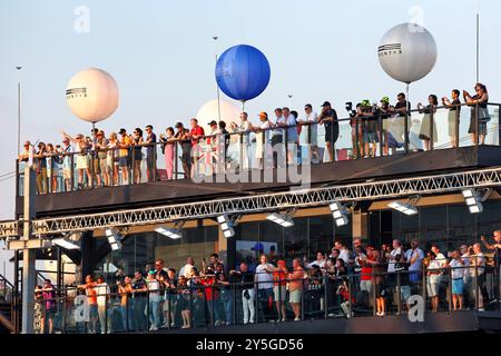
[[[463,90],[464,103],[471,107],[469,134],[473,142],[484,144],[488,134],[487,123],[490,120],[488,110],[489,95],[484,85],[477,83],[475,95]],[[460,120],[460,91],[452,90],[451,99],[443,97],[442,105],[449,110],[448,135],[451,146],[458,146],[456,128]],[[419,140],[425,150],[436,142],[436,120],[432,120],[439,107],[439,99],[430,95],[428,105],[418,103],[416,108],[423,115]],[[351,158],[375,157],[377,148],[381,156],[392,155],[404,145],[404,119],[409,116],[411,103],[403,92],[396,96],[395,105],[389,97],[383,97],[379,103],[365,99],[352,107],[348,102],[352,130]],[[100,187],[140,184],[160,178],[175,179],[178,174],[190,178],[199,174],[217,174],[229,166],[242,169],[252,167],[264,168],[271,161],[273,167],[301,165],[310,162],[330,162],[335,159],[335,144],[340,137],[340,119],[331,102],[322,105],[320,113],[312,105],[304,106],[304,113],[287,107],[274,110],[275,118],[267,112],[259,112],[258,122],[253,123],[247,112],[242,112],[239,121],[226,118],[226,121],[208,123],[204,129],[196,118],[189,120],[189,128],[183,122],[168,127],[165,134],[157,135],[148,125],[143,130],[137,127],[132,134],[121,128],[118,134],[92,129],[90,136],[75,136],[62,132],[62,142],[38,142],[37,149],[26,141],[19,156],[20,162],[27,162],[33,157],[33,169],[37,172],[37,191],[39,194],[70,191],[85,187]],[[433,127],[432,127],[433,123]],[[318,144],[318,127],[324,128],[325,149],[321,157]],[[433,128],[433,129],[432,129]],[[433,132],[433,134],[432,134]],[[235,134],[235,135],[233,135]],[[252,138],[250,134],[254,134]],[[431,137],[432,136],[432,137]],[[255,141],[255,159],[250,156],[250,145]],[[158,147],[165,159],[165,177],[157,170]],[[307,154],[303,151],[307,149]],[[183,170],[176,169],[177,157]],[[303,157],[304,156],[304,157]],[[255,164],[253,165],[252,161]],[[144,176],[146,171],[146,177]],[[164,171],[164,170],[163,170]]]

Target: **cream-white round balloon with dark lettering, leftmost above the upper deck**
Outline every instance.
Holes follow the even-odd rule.
[[[71,78],[66,101],[79,119],[98,122],[107,119],[118,107],[118,86],[108,72],[89,68]]]

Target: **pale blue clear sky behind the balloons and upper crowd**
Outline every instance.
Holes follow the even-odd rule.
[[[120,90],[119,108],[99,125],[105,131],[187,122],[216,97],[215,53],[240,43],[261,49],[272,68],[268,88],[246,105],[250,121],[289,105],[289,93],[295,109],[311,102],[318,110],[330,100],[345,116],[346,101],[394,100],[404,90],[377,60],[381,38],[401,22],[423,24],[439,49],[411,101],[472,91],[477,8],[477,0],[1,0],[0,220],[14,209],[14,179],[2,175],[14,170],[17,155],[16,66],[22,66],[21,140],[32,142],[59,142],[61,129],[90,131],[65,98],[70,78],[88,67],[108,71]],[[501,2],[480,1],[480,79],[498,102]]]

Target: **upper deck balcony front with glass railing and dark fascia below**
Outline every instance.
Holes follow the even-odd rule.
[[[337,120],[338,130],[317,122],[258,129],[261,122],[252,120],[255,128],[229,129],[227,135],[46,155],[33,160],[37,216],[501,166],[500,107],[438,107],[429,113],[411,110],[407,116],[344,118]],[[473,136],[477,131],[485,135]],[[326,144],[328,136],[337,136],[334,145]],[[191,168],[186,165],[189,161]],[[17,161],[18,216],[24,165]]]

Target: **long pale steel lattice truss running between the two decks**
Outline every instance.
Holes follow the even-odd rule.
[[[255,214],[326,206],[333,200],[342,202],[379,200],[415,195],[458,192],[465,188],[492,188],[498,186],[501,186],[501,168],[489,168],[425,177],[376,180],[274,194],[263,192],[252,196],[189,204],[38,219],[32,221],[31,228],[33,235],[55,235],[68,231],[86,231],[112,227],[212,218],[222,214]],[[17,225],[16,228],[13,228],[13,224]],[[18,235],[21,233],[19,228],[21,225],[17,221],[0,224],[0,237]],[[18,231],[18,234],[12,234],[13,230]]]

